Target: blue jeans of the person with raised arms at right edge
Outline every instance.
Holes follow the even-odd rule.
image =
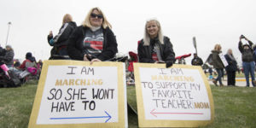
[[[250,86],[249,73],[251,73],[252,84],[253,84],[253,80],[255,80],[255,76],[254,76],[255,64],[254,64],[254,61],[250,61],[250,62],[243,61],[242,62],[242,67],[243,67],[244,75],[247,79],[247,86]],[[255,84],[253,84],[253,86],[255,86]]]

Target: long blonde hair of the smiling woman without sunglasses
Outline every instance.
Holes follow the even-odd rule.
[[[143,37],[144,44],[143,45],[148,46],[150,44],[150,38],[149,38],[149,35],[148,35],[148,32],[147,32],[147,25],[148,25],[148,22],[150,22],[150,21],[155,21],[156,26],[159,29],[158,30],[158,39],[160,41],[160,44],[164,44],[164,36],[163,36],[163,32],[162,32],[162,29],[161,29],[161,26],[160,26],[160,22],[156,19],[150,19],[150,20],[147,20],[146,25],[145,25],[144,37]]]

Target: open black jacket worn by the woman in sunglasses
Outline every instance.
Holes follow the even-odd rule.
[[[84,26],[77,27],[68,40],[67,53],[73,60],[84,60],[84,32],[86,32],[86,29],[90,28]],[[96,56],[96,58],[100,59],[101,61],[108,61],[118,52],[118,44],[113,32],[109,27],[106,29],[102,28],[102,30],[104,36],[103,49],[102,53]]]

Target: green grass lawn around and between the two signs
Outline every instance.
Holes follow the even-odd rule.
[[[20,88],[0,89],[0,127],[26,128],[37,81]],[[215,107],[215,119],[207,128],[256,127],[256,88],[211,86]],[[127,87],[127,98],[137,109],[135,87]],[[129,114],[129,127],[137,127],[137,116]]]

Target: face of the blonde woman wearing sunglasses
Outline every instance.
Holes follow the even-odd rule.
[[[90,14],[90,25],[91,26],[102,26],[103,16],[94,9]]]

